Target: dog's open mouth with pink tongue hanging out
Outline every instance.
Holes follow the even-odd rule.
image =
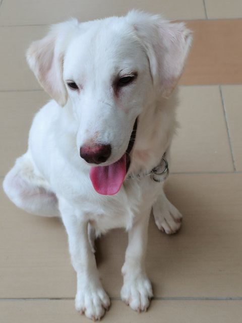
[[[130,153],[135,143],[137,125],[138,118],[135,121],[128,148],[119,160],[108,166],[91,167],[89,176],[97,193],[114,195],[120,190],[131,164]]]

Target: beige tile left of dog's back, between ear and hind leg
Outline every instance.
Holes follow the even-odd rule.
[[[0,176],[26,151],[33,116],[47,99],[43,91],[0,92]]]

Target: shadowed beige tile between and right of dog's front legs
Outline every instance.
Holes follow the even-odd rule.
[[[242,174],[170,177],[167,195],[184,223],[167,236],[151,219],[146,264],[155,297],[241,296],[241,189]],[[114,231],[99,244],[99,270],[112,296],[122,286],[118,271],[126,243],[125,234]]]

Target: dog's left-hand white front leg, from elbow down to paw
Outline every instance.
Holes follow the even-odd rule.
[[[109,308],[110,300],[99,280],[88,239],[88,222],[65,201],[59,202],[59,208],[68,233],[72,264],[77,272],[76,309],[93,320],[100,319]]]

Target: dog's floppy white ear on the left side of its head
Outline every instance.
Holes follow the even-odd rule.
[[[72,19],[53,25],[41,40],[34,41],[27,50],[27,62],[43,89],[60,105],[67,102],[63,80],[63,61],[68,43],[78,30]]]

